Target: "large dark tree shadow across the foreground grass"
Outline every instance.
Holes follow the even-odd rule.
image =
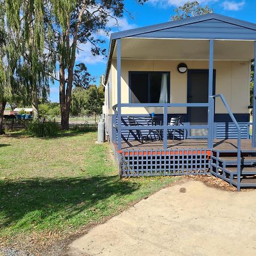
[[[95,219],[95,214],[98,218],[107,216],[123,195],[139,187],[120,181],[118,176],[1,180],[0,229],[11,227],[21,232],[38,225],[59,228],[72,221],[84,225],[86,220]]]

